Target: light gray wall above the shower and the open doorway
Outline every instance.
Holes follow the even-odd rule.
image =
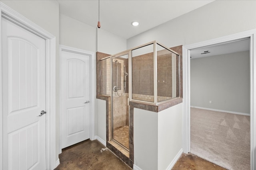
[[[127,39],[127,49],[154,40],[167,47],[198,43],[254,29],[255,20],[255,0],[216,0]]]

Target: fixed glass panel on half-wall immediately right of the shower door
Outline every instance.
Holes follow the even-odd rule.
[[[132,99],[154,102],[153,44],[132,50]]]

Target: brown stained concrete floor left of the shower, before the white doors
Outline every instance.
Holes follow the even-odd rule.
[[[54,170],[132,170],[97,140],[82,141],[62,149]]]

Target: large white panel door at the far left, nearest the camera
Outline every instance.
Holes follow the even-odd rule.
[[[2,18],[3,169],[46,169],[45,40]]]

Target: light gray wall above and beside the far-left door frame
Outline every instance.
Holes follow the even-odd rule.
[[[55,0],[0,0],[56,36],[56,160],[59,152],[59,3]]]

